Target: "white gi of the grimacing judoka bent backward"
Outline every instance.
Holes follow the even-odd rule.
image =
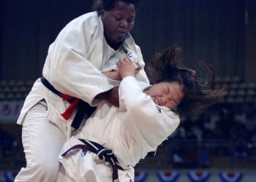
[[[170,109],[157,106],[143,90],[148,84],[128,76],[119,87],[120,108],[100,103],[84,127],[64,144],[62,152],[77,144],[78,138],[111,149],[124,170],[119,181],[134,181],[133,167],[178,127],[180,119]],[[112,182],[112,168],[96,154],[81,149],[61,157],[58,182]]]

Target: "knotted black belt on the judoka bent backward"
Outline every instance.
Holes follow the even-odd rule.
[[[62,157],[66,157],[67,153],[69,151],[72,151],[74,149],[83,149],[86,151],[91,151],[94,154],[97,154],[99,159],[105,160],[110,163],[112,170],[113,170],[113,182],[119,181],[118,180],[118,169],[124,170],[119,164],[118,160],[116,159],[115,154],[113,154],[113,151],[110,149],[105,149],[104,146],[99,145],[99,143],[95,143],[93,141],[87,141],[83,139],[78,139],[82,141],[84,144],[78,144],[75,146],[72,146],[70,149],[65,151],[63,154],[61,154]]]

